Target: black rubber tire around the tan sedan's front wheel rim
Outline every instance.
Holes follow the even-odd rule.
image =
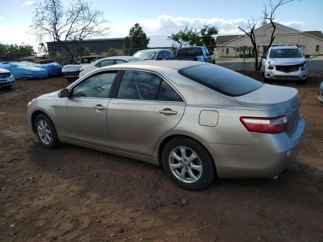
[[[41,138],[39,137],[39,132],[37,130],[37,125],[39,123],[40,120],[44,120],[44,122],[46,122],[46,124],[49,127],[50,130],[50,142],[48,144],[44,143]],[[54,126],[54,124],[51,122],[50,118],[44,114],[44,113],[40,113],[36,116],[35,118],[35,122],[34,122],[34,129],[37,135],[37,138],[40,142],[40,144],[42,144],[44,147],[46,147],[47,149],[55,149],[60,145],[60,140],[59,137],[57,135],[57,131],[56,128]]]

